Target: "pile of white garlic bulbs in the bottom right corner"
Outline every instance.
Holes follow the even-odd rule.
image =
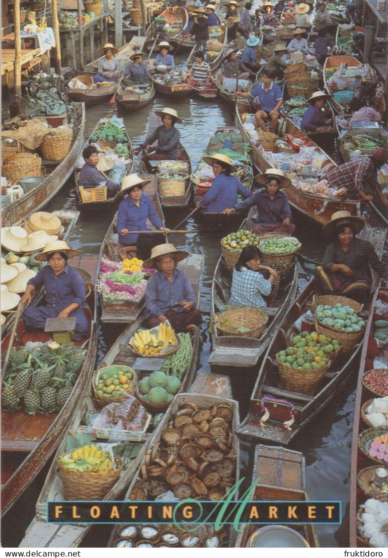
[[[370,498],[361,508],[365,508],[361,516],[363,525],[358,527],[362,535],[369,539],[372,546],[388,547],[388,533],[382,530],[388,523],[388,502]]]

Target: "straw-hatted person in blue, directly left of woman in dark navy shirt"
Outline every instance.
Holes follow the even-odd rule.
[[[231,176],[237,169],[231,159],[222,153],[215,153],[203,160],[212,166],[215,179],[202,200],[195,204],[198,209],[211,213],[222,213],[224,209],[237,203],[237,194],[250,198],[252,192],[246,189],[236,177]]]

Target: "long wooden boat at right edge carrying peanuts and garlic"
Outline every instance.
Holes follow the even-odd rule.
[[[386,304],[388,301],[388,291],[386,288],[377,288],[372,301],[372,308],[375,304]],[[367,402],[378,398],[379,396],[369,391],[362,383],[364,374],[373,369],[373,359],[378,358],[382,364],[388,368],[388,358],[384,346],[377,345],[376,339],[373,338],[373,323],[376,320],[375,312],[371,312],[365,333],[365,340],[362,347],[360,369],[358,371],[355,417],[353,421],[352,450],[351,450],[351,476],[350,476],[350,507],[349,507],[349,538],[353,548],[373,546],[366,538],[361,537],[361,533],[357,530],[357,512],[360,506],[369,498],[376,498],[368,493],[369,484],[372,481],[373,474],[379,467],[384,467],[368,458],[363,454],[358,446],[358,437],[362,431],[369,426],[362,419],[361,409]],[[382,344],[380,344],[382,345]],[[361,473],[362,472],[362,473]],[[360,483],[363,478],[363,485]]]

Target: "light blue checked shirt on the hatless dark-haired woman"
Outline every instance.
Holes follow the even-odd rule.
[[[233,306],[250,306],[257,308],[267,306],[261,295],[271,294],[271,283],[260,272],[242,267],[241,271],[233,270],[232,296],[229,304]]]

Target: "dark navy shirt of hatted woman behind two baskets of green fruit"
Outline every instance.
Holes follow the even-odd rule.
[[[251,198],[234,205],[234,209],[242,211],[253,205],[256,205],[257,209],[256,223],[260,225],[282,223],[284,219],[293,217],[287,196],[280,190],[276,192],[274,201],[271,200],[266,188],[256,190]]]

